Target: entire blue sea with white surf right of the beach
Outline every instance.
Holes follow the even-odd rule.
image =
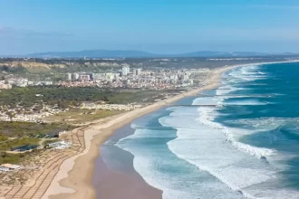
[[[131,128],[116,146],[165,199],[299,198],[299,63],[227,71]]]

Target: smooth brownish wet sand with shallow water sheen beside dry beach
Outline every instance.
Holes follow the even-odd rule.
[[[92,185],[96,190],[96,198],[138,198],[161,199],[162,192],[148,185],[135,171],[133,158],[129,152],[114,146],[122,137],[134,133],[129,125],[117,129],[101,146],[101,156],[95,161]],[[114,187],[118,187],[115,191]]]

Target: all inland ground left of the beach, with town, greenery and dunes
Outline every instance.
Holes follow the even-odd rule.
[[[82,152],[83,128],[94,119],[198,88],[213,72],[208,68],[150,68],[122,61],[110,61],[110,65],[97,61],[109,66],[97,71],[88,67],[65,70],[42,62],[63,61],[0,61],[0,197],[34,189],[37,182],[53,177],[55,166]],[[163,65],[166,61],[149,61],[154,62]],[[19,191],[12,194],[12,187]]]

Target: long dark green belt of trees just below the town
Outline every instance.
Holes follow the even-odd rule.
[[[107,103],[127,104],[140,102],[150,96],[158,95],[157,90],[148,91],[121,91],[104,90],[97,87],[66,88],[57,86],[38,86],[2,90],[0,95],[0,106],[15,108],[20,103],[24,108],[35,105],[35,111],[43,109],[43,102],[48,105],[58,105],[60,109],[69,106],[79,106],[82,101],[105,101]]]

